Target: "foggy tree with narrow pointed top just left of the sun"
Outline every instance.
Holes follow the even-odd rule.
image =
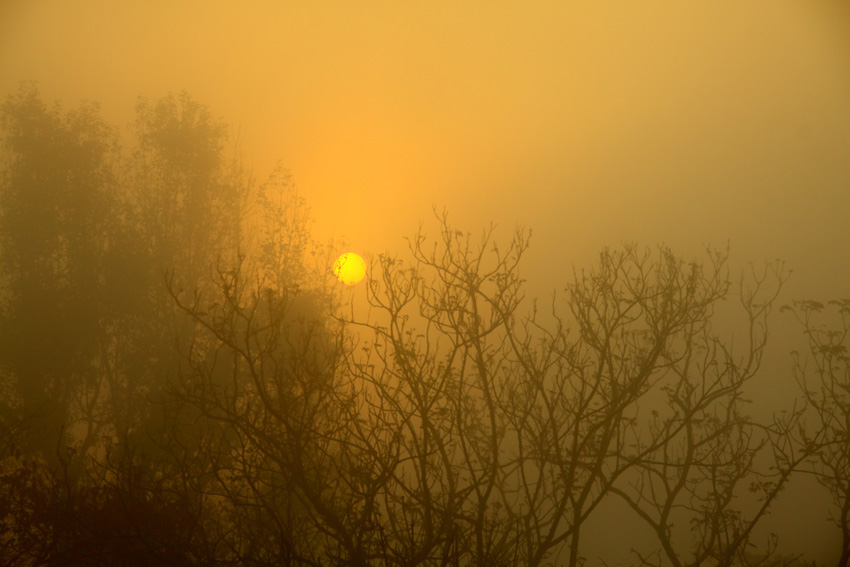
[[[170,437],[184,437],[188,419],[194,431],[181,445],[202,440],[207,451],[188,451],[183,462],[205,467],[192,493],[217,511],[204,539],[224,549],[218,560],[309,565],[357,557],[345,515],[359,495],[340,493],[335,462],[345,454],[338,447],[352,403],[328,317],[335,300],[309,270],[308,249],[320,249],[311,246],[309,215],[285,173],[260,188],[256,207],[253,253],[217,265],[194,292],[168,281],[193,325],[169,382],[169,403],[183,413]]]

